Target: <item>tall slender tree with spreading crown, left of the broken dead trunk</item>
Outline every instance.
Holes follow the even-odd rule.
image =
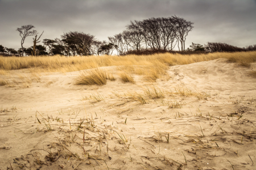
[[[16,29],[16,31],[19,32],[19,36],[22,37],[22,40],[20,42],[21,46],[22,46],[22,56],[24,54],[23,44],[24,44],[26,37],[34,36],[37,33],[34,29],[31,30],[32,28],[35,28],[35,27],[34,27],[34,25],[30,24],[30,25],[22,25],[22,27]]]

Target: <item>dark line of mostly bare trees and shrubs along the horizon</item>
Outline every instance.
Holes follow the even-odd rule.
[[[108,41],[99,41],[89,33],[69,31],[56,39],[43,39],[40,42],[40,34],[34,30],[34,25],[23,25],[17,28],[19,32],[21,48],[15,50],[0,45],[0,53],[16,56],[91,56],[91,55],[117,55],[126,54],[151,54],[157,52],[172,52],[174,48],[180,52],[232,52],[256,50],[256,45],[238,48],[225,43],[208,42],[206,45],[192,43],[190,48],[185,48],[185,40],[193,29],[192,22],[177,16],[168,18],[149,18],[142,21],[134,20],[126,25],[126,29],[112,37]],[[40,36],[39,36],[40,35]],[[33,36],[32,46],[24,48],[24,41],[28,36]]]

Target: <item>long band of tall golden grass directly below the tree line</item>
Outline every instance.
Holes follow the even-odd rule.
[[[150,56],[90,56],[90,57],[0,57],[0,70],[30,69],[32,72],[68,72],[101,66],[159,66],[163,64],[187,65],[190,63],[226,58],[229,62],[256,62],[256,52],[208,53],[195,55],[154,54]],[[159,68],[159,67],[158,67]],[[155,70],[153,70],[155,71]],[[158,70],[161,72],[161,70]]]

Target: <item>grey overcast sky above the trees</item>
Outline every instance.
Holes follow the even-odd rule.
[[[32,24],[43,39],[81,31],[98,40],[122,32],[130,20],[179,16],[195,23],[185,42],[256,44],[256,0],[0,0],[0,45],[20,48],[16,28]],[[32,46],[27,37],[24,47]]]

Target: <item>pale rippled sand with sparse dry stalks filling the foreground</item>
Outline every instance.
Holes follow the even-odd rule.
[[[256,169],[255,68],[216,59],[132,84],[111,66],[117,80],[104,86],[75,85],[79,71],[10,71],[0,75],[16,80],[0,86],[0,169]],[[164,98],[144,94],[153,86]]]

